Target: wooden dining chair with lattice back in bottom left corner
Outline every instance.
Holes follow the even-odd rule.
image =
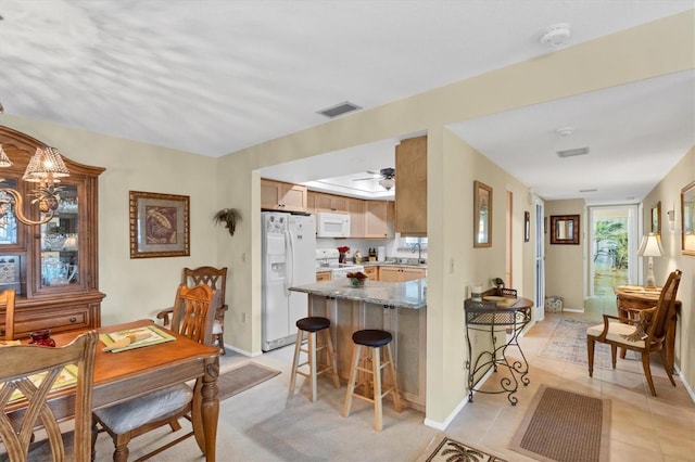
[[[3,412],[0,414],[0,439],[11,462],[29,460],[29,444],[34,428],[39,424],[46,429],[53,461],[91,460],[91,397],[98,339],[97,331],[89,331],[64,347],[2,347],[0,407]],[[68,364],[77,365],[75,444],[72,457],[65,454],[58,420],[48,405],[51,389],[60,386],[67,374],[63,368]],[[37,374],[45,374],[43,380],[37,381]],[[22,416],[10,412],[23,405],[26,410]]]

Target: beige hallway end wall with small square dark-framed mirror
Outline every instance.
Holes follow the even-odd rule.
[[[547,232],[545,241],[545,295],[563,297],[564,309],[584,309],[584,274],[586,266],[586,208],[583,200],[546,201]],[[579,245],[551,244],[551,217],[579,215]],[[561,271],[558,269],[561,268]]]

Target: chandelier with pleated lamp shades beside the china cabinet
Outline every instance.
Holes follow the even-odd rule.
[[[0,144],[0,168],[10,167],[12,162]],[[40,220],[31,220],[24,215],[24,198],[15,189],[0,184],[0,218],[3,218],[14,207],[14,216],[24,224],[43,224],[53,218],[53,213],[60,204],[62,188],[58,185],[61,178],[70,177],[63,157],[55,147],[37,147],[29,159],[22,179],[30,183],[38,183],[30,192],[31,204],[38,204],[42,214]],[[4,179],[0,179],[4,181]]]

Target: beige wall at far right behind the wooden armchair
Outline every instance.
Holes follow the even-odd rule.
[[[650,207],[661,202],[661,245],[665,255],[654,258],[654,275],[657,285],[662,285],[668,274],[674,269],[683,271],[678,298],[683,304],[678,319],[675,338],[675,364],[681,370],[682,378],[695,385],[695,257],[681,253],[681,189],[695,180],[695,146],[687,155],[664,178],[664,180],[644,200],[643,224],[645,230],[652,229]],[[668,210],[675,210],[675,230],[669,231]],[[646,231],[645,231],[646,232]],[[646,273],[646,267],[644,269]]]

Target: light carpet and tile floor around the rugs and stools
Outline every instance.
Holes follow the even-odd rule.
[[[530,362],[531,383],[520,387],[518,405],[510,406],[503,395],[477,394],[444,433],[510,462],[530,461],[507,446],[539,386],[546,384],[610,398],[610,461],[695,461],[695,405],[680,378],[675,388],[670,385],[658,355],[653,361],[658,398],[649,395],[636,360],[619,361],[616,371],[595,369],[590,378],[585,365],[538,356],[563,317],[598,321],[603,312],[615,313],[614,298],[590,300],[583,313],[546,315],[520,341]],[[372,428],[374,413],[368,402],[356,400],[345,419],[340,415],[345,386],[336,389],[329,380],[319,381],[316,402],[307,399],[308,388],[301,377],[298,392],[289,396],[292,351],[293,347],[286,347],[253,358],[282,373],[220,403],[218,461],[415,461],[441,435],[424,425],[422,413],[409,409],[395,413],[390,403],[383,408],[381,433]],[[222,369],[248,360],[228,354],[223,357]],[[131,457],[146,452],[153,439],[169,437],[166,428],[162,432],[136,438],[130,444]],[[110,438],[100,435],[98,460],[110,460],[112,448]],[[201,454],[188,440],[152,460],[200,461]]]

